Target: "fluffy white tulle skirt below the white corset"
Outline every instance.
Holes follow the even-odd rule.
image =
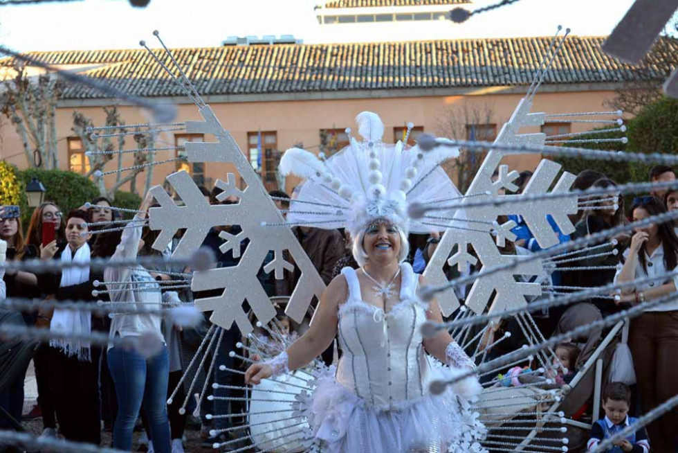
[[[311,396],[309,425],[322,452],[484,452],[485,428],[468,400],[452,389],[380,409],[336,382],[318,378]]]

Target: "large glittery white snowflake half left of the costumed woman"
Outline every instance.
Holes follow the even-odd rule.
[[[210,321],[223,328],[231,328],[235,321],[239,330],[247,334],[253,330],[243,308],[244,301],[247,301],[257,319],[268,323],[275,317],[275,308],[257,274],[269,251],[273,251],[275,258],[264,267],[264,272],[273,272],[278,280],[284,278],[285,269],[292,272],[294,265],[284,259],[284,251],[287,251],[299,267],[301,277],[287,305],[286,313],[295,321],[301,322],[313,296],[320,298],[325,289],[322,278],[291,229],[284,224],[280,211],[266,193],[259,175],[231,134],[223,129],[210,106],[205,105],[199,112],[204,121],[187,121],[186,132],[212,135],[216,141],[185,143],[188,161],[232,163],[245,181],[246,188],[237,188],[235,175],[229,174],[226,181],[217,180],[215,183],[223,190],[217,198],[223,201],[226,197],[235,196],[239,201],[236,204],[210,206],[186,172],[180,171],[168,176],[167,181],[181,197],[183,205],[176,204],[160,186],[152,188],[152,194],[161,204],[161,207],[151,208],[149,211],[150,228],[161,230],[153,247],[165,249],[176,232],[185,229],[173,257],[187,256],[201,246],[210,228],[239,225],[242,228],[241,233],[232,235],[221,232],[220,238],[225,241],[221,245],[221,251],[232,250],[235,258],[239,257],[241,243],[248,239],[240,262],[233,267],[195,272],[191,287],[193,291],[223,289],[219,296],[196,299],[196,308],[212,311]]]

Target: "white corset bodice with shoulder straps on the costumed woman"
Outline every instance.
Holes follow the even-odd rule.
[[[425,307],[417,301],[419,276],[401,265],[400,302],[388,313],[366,303],[354,269],[342,269],[349,297],[339,309],[342,357],[336,380],[369,405],[390,409],[428,395],[430,365],[422,344]]]

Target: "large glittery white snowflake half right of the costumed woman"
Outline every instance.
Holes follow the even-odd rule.
[[[544,124],[545,114],[530,113],[531,106],[531,100],[527,97],[520,101],[511,119],[502,127],[494,142],[495,144],[544,145],[545,134],[519,134],[521,127]],[[480,170],[468,188],[465,199],[469,199],[472,196],[474,201],[490,197],[501,200],[505,197],[522,197],[524,195],[549,192],[553,181],[556,181],[560,165],[544,159],[531,177],[529,184],[524,190],[524,195],[498,195],[502,188],[508,188],[509,190],[516,189],[513,181],[517,174],[515,172],[508,172],[507,166],[500,166],[504,155],[505,153],[500,150],[490,150],[488,152]],[[493,182],[491,177],[495,170],[499,172],[499,179]],[[564,172],[552,191],[566,192],[569,190],[574,178],[574,175],[571,173]],[[553,217],[562,233],[569,234],[574,231],[574,225],[571,224],[567,215],[575,214],[576,212],[576,195],[551,200],[465,208],[466,219],[473,224],[474,230],[461,231],[448,229],[431,257],[424,276],[433,284],[444,284],[447,282],[443,272],[443,266],[446,263],[448,265],[458,265],[460,271],[464,270],[465,265],[475,265],[477,261],[467,253],[466,245],[473,247],[484,269],[512,263],[515,260],[515,256],[502,255],[497,249],[497,245],[504,245],[506,240],[515,240],[515,235],[510,231],[511,227],[515,226],[515,224],[513,222],[506,222],[505,224],[498,225],[496,221],[499,215],[521,215],[540,247],[547,248],[558,244],[558,235],[551,228],[547,215]],[[459,245],[459,251],[450,257],[452,248],[455,245]],[[517,265],[515,269],[495,272],[489,276],[482,276],[481,271],[480,276],[482,278],[477,278],[473,283],[466,297],[466,306],[476,314],[482,314],[490,304],[493,294],[495,294],[495,297],[493,299],[494,302],[490,306],[491,312],[524,306],[527,304],[525,296],[539,296],[542,294],[542,290],[539,283],[517,282],[515,276],[538,276],[543,273],[544,269],[540,260],[531,260]],[[452,289],[439,294],[438,301],[445,316],[449,316],[459,308],[459,299],[457,299],[457,295]]]

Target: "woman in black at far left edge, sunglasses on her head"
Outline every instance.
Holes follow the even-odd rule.
[[[24,244],[24,229],[21,227],[19,206],[0,206],[0,239],[6,242],[7,248],[4,254],[7,261],[36,258],[35,249]],[[34,299],[40,296],[35,274],[30,272],[6,269],[2,283],[6,287],[6,297]],[[24,314],[24,321],[32,325],[35,322],[33,314]],[[0,405],[19,422],[21,422],[21,412],[24,408],[25,375],[24,369],[8,389],[0,392]],[[8,427],[7,420],[0,417],[0,429],[6,427]]]

